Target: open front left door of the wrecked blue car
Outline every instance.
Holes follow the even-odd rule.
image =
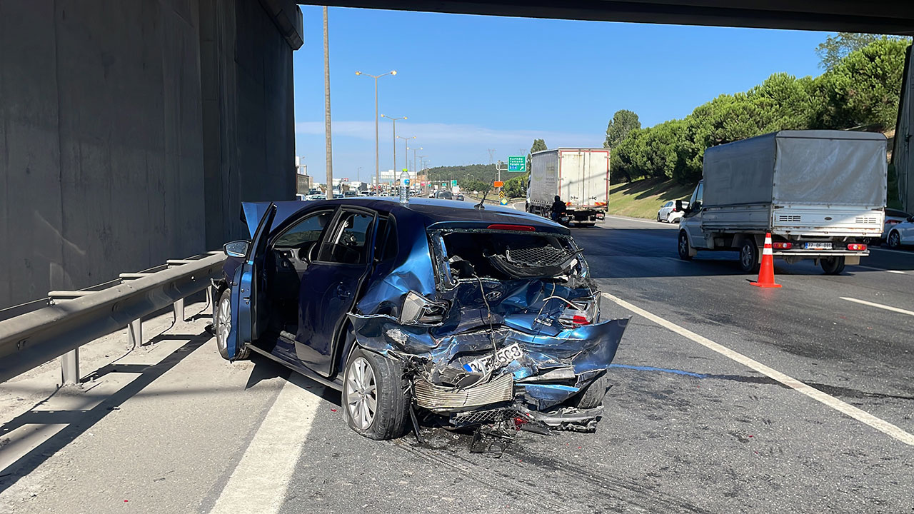
[[[231,329],[228,332],[228,356],[235,359],[239,348],[256,341],[261,331],[266,327],[264,312],[267,308],[265,300],[266,284],[263,273],[263,261],[266,255],[267,236],[273,218],[276,216],[276,206],[271,203],[254,232],[248,246],[248,254],[244,262],[235,271],[231,281]]]

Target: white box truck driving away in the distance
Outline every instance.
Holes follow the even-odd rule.
[[[526,211],[548,218],[556,196],[565,202],[572,222],[593,225],[605,220],[610,196],[610,150],[555,148],[533,154]]]

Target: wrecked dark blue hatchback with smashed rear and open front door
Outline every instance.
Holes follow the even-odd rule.
[[[389,439],[417,420],[591,431],[627,319],[567,228],[428,198],[245,203],[250,241],[214,282],[218,350],[342,391],[347,423]]]

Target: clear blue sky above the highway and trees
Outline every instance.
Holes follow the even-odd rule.
[[[292,58],[296,153],[323,182],[323,22],[321,7],[302,10],[304,45]],[[356,70],[397,70],[378,81],[379,112],[409,116],[397,133],[415,135],[430,166],[450,166],[488,163],[488,148],[506,160],[537,137],[549,147],[600,146],[619,109],[650,126],[774,72],[818,75],[814,50],[827,36],[342,7],[329,20],[334,176],[350,180],[375,169],[374,80]],[[391,132],[382,118],[382,170],[394,167]]]

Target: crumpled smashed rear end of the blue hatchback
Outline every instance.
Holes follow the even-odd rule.
[[[592,430],[600,406],[580,399],[628,319],[600,321],[600,291],[570,236],[501,225],[428,233],[429,246],[412,251],[432,255],[430,268],[421,253],[401,262],[350,315],[357,343],[400,360],[415,406],[454,425],[519,416]]]

